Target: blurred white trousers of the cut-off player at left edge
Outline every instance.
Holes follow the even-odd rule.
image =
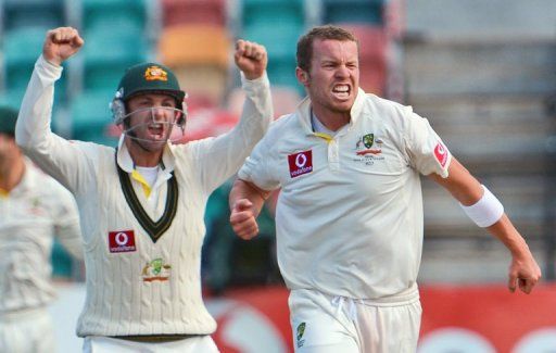
[[[55,352],[52,318],[46,307],[0,314],[0,352]]]

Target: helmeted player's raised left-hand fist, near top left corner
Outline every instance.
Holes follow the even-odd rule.
[[[59,27],[47,33],[42,46],[42,56],[54,64],[61,65],[66,59],[79,51],[84,45],[77,29],[72,27]]]

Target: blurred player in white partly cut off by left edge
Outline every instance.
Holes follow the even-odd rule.
[[[77,205],[15,143],[17,112],[0,108],[0,352],[55,352],[54,237],[83,260]]]

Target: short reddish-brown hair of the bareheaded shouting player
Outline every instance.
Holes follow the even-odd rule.
[[[355,41],[357,43],[357,51],[359,50],[359,42],[355,36],[338,26],[325,25],[313,27],[308,33],[298,41],[298,66],[303,71],[308,72],[311,68],[311,60],[313,59],[313,42],[316,39],[326,40],[340,40],[340,41]]]

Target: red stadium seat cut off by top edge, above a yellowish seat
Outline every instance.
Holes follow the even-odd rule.
[[[226,26],[224,0],[160,0],[164,27],[180,24]]]

